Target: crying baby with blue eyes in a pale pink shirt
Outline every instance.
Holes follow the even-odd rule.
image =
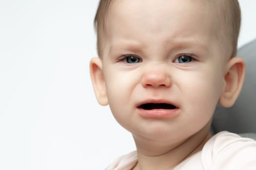
[[[107,170],[256,170],[255,140],[209,132],[244,81],[237,0],[100,0],[95,26],[97,100],[137,148]]]

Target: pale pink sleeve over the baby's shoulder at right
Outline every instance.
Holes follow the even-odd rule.
[[[255,170],[256,141],[220,132],[204,145],[201,159],[207,170]]]

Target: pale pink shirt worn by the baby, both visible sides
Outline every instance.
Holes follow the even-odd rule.
[[[138,162],[134,151],[119,157],[107,170],[131,170]],[[202,151],[174,170],[256,170],[256,141],[229,132],[211,137]]]

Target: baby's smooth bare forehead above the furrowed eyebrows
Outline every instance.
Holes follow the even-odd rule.
[[[114,39],[117,39],[120,38],[118,35],[121,35],[121,38],[141,40],[144,44],[154,37],[158,43],[163,41],[173,43],[174,41],[170,41],[172,39],[175,41],[179,39],[179,42],[192,41],[195,38],[203,39],[205,42],[204,37],[216,39],[213,37],[215,35],[212,25],[216,25],[212,21],[214,17],[209,14],[209,10],[198,10],[204,9],[201,3],[190,2],[190,5],[185,6],[189,0],[183,0],[182,3],[161,1],[164,3],[145,4],[140,0],[132,4],[129,3],[130,1],[113,4],[107,23],[108,37],[111,39],[114,36]],[[177,8],[178,5],[182,8]],[[125,10],[123,10],[124,6]],[[202,20],[204,24],[199,26],[197,23]],[[161,41],[158,41],[159,38]]]

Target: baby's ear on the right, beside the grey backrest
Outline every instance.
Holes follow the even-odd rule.
[[[219,103],[231,107],[241,91],[245,77],[245,64],[242,58],[233,57],[228,61],[224,84]]]

